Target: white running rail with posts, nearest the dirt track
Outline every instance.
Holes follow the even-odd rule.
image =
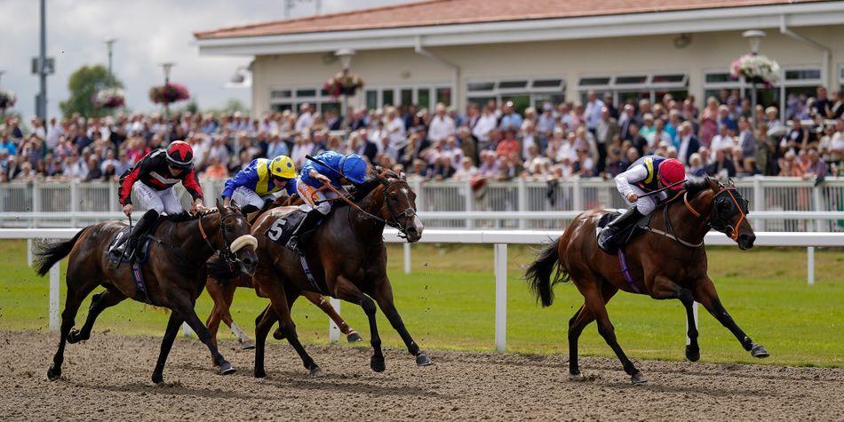
[[[11,229],[0,228],[0,239],[68,239],[76,235],[76,228],[38,228]],[[499,352],[506,350],[507,319],[507,244],[547,243],[562,235],[560,231],[538,230],[425,230],[421,243],[464,243],[493,244],[495,268],[495,345]],[[404,243],[393,230],[385,231],[385,242]],[[721,233],[709,233],[705,236],[707,245],[734,244]],[[808,283],[815,283],[815,247],[844,247],[844,235],[839,233],[756,233],[757,246],[797,246],[808,251]],[[404,243],[404,271],[410,273],[410,243]],[[50,269],[50,329],[59,328],[59,289],[60,264]],[[331,299],[331,304],[339,312],[339,301]],[[697,303],[695,304],[695,322],[697,324]],[[183,326],[183,330],[185,330]],[[186,332],[188,332],[186,330]],[[330,322],[329,337],[338,341],[339,330]]]

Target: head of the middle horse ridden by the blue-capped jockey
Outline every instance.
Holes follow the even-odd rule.
[[[381,171],[374,177],[381,183],[381,195],[384,200],[380,217],[385,219],[389,226],[398,228],[409,243],[417,242],[422,238],[424,227],[416,213],[416,194],[410,189],[404,173]]]

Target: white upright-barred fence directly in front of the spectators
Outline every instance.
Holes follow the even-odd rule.
[[[203,179],[205,202],[212,206],[222,191],[222,180]],[[430,214],[428,227],[562,229],[574,213],[533,214],[549,211],[582,211],[591,208],[623,208],[612,180],[568,179],[556,183],[517,179],[489,182],[473,189],[468,181],[410,180],[417,193],[418,210]],[[799,178],[753,177],[736,179],[736,185],[750,202],[753,227],[766,232],[844,232],[844,217],[831,212],[844,212],[844,178],[829,178],[815,187],[812,180]],[[187,192],[179,187],[179,197],[186,205]],[[26,219],[39,227],[79,227],[86,219],[83,213],[117,212],[117,190],[114,182],[12,182],[0,185],[0,214],[26,212],[66,213],[60,218]],[[773,212],[799,211],[783,218],[766,218]],[[462,212],[443,217],[445,212]],[[525,213],[517,216],[515,212]],[[812,214],[825,212],[827,214]],[[471,213],[471,214],[470,214]],[[506,214],[505,214],[506,213]],[[9,215],[9,214],[5,214]],[[482,216],[481,217],[472,217]],[[537,218],[524,217],[531,215]],[[844,216],[844,214],[841,214]],[[73,217],[69,217],[73,216]],[[21,227],[24,219],[4,218],[4,227]],[[11,226],[8,226],[11,225]]]

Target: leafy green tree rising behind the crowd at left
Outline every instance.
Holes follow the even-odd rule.
[[[123,88],[116,77],[112,76],[112,86]],[[97,107],[93,104],[94,94],[103,88],[108,87],[108,70],[102,65],[83,66],[76,69],[68,79],[68,91],[70,98],[62,101],[59,105],[65,116],[79,113],[86,117],[102,117],[108,115],[110,110]]]

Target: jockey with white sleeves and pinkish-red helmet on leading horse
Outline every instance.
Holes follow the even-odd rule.
[[[680,182],[685,179],[686,170],[683,164],[674,158],[645,155],[630,164],[625,172],[616,176],[616,187],[624,196],[627,205],[634,206],[601,230],[598,246],[604,251],[611,251],[616,242],[614,235],[636,224],[636,221],[653,212],[657,204],[668,198],[665,191],[645,197],[641,195],[669,186],[671,190],[681,190],[683,186]]]

